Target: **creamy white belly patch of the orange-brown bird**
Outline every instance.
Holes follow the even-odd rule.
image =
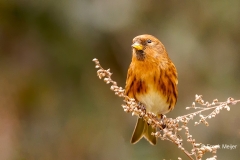
[[[169,112],[169,104],[166,102],[166,97],[163,97],[152,89],[150,89],[147,94],[137,95],[137,99],[144,104],[147,112],[152,112],[156,115]]]

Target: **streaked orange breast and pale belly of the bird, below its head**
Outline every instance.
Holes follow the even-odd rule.
[[[157,63],[138,61],[130,65],[126,95],[144,104],[147,112],[166,114],[177,100],[176,74]]]

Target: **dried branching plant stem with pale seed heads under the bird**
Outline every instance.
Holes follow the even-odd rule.
[[[186,109],[198,109],[199,111],[189,113],[183,116],[178,116],[175,119],[167,118],[163,115],[162,119],[159,120],[157,116],[151,112],[146,113],[145,107],[137,102],[134,98],[129,98],[125,94],[125,90],[122,87],[117,86],[117,82],[111,79],[112,73],[110,69],[103,69],[99,63],[99,61],[94,58],[93,61],[96,64],[96,68],[98,68],[97,75],[100,79],[103,80],[107,84],[112,84],[110,89],[115,92],[116,95],[119,97],[124,98],[124,104],[122,104],[123,110],[128,113],[132,113],[132,115],[136,115],[138,117],[142,117],[149,125],[153,127],[157,127],[158,131],[156,133],[152,133],[152,135],[159,137],[162,140],[169,140],[176,144],[179,149],[181,149],[189,159],[194,160],[201,160],[203,155],[207,152],[213,154],[212,157],[208,158],[208,160],[216,160],[217,156],[217,149],[219,148],[218,145],[215,146],[205,146],[202,143],[196,143],[196,140],[189,132],[189,128],[187,127],[190,120],[196,115],[199,115],[200,120],[195,122],[195,125],[199,125],[201,123],[208,126],[207,119],[215,117],[222,109],[226,109],[230,111],[229,105],[235,105],[236,103],[240,102],[240,100],[234,100],[233,98],[229,97],[226,102],[218,102],[217,99],[213,100],[212,103],[204,102],[201,95],[195,96],[195,102],[197,102],[202,107],[196,107],[195,102],[192,103],[191,107],[186,107]],[[213,110],[207,116],[203,116],[202,112]],[[181,124],[181,125],[180,125]],[[164,126],[164,127],[163,127]],[[178,134],[180,131],[185,130],[185,135],[187,136],[187,142],[192,144],[191,152],[187,151],[183,147],[183,140],[179,138]],[[179,160],[181,158],[178,158]]]

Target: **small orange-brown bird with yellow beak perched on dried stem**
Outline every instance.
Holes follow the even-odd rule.
[[[164,45],[152,35],[140,35],[133,39],[132,62],[128,69],[125,93],[145,106],[146,112],[158,117],[173,110],[177,102],[177,70],[168,57]],[[156,132],[142,118],[138,118],[131,143],[142,137],[155,145]]]

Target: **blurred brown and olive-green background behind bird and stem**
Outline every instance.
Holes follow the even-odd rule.
[[[239,0],[0,1],[0,159],[187,159],[168,141],[130,144],[136,117],[96,76],[93,58],[124,87],[132,39],[144,33],[178,69],[168,117],[188,113],[195,94],[240,99]],[[217,155],[238,159],[239,112],[237,104],[190,131],[197,142],[237,145]]]

